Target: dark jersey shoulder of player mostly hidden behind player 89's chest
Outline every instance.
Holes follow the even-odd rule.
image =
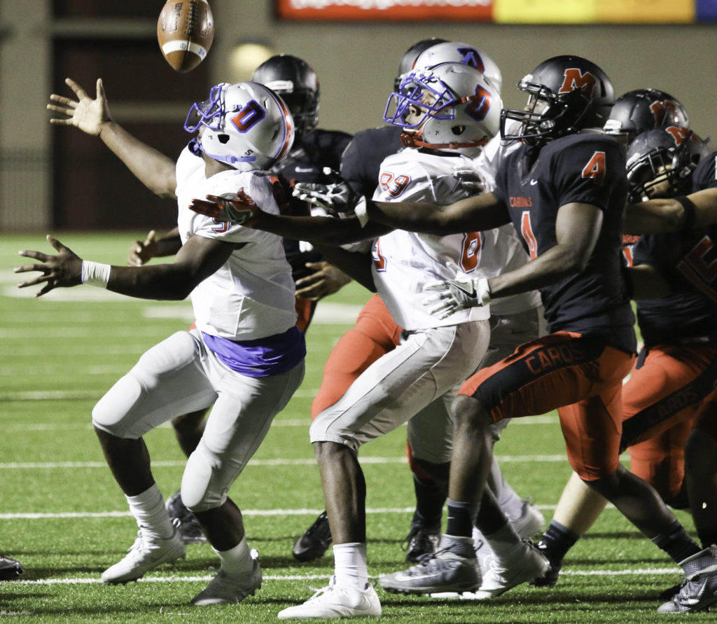
[[[402,128],[381,126],[357,132],[341,159],[341,177],[361,195],[371,197],[379,184],[381,163],[403,149]]]

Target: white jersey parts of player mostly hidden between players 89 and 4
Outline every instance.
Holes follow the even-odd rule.
[[[520,123],[520,122],[513,122]],[[509,132],[511,126],[508,126]],[[515,130],[515,128],[513,128]],[[473,160],[473,169],[478,172],[483,180],[485,192],[492,192],[495,189],[495,176],[498,173],[500,164],[505,156],[521,145],[520,141],[502,141],[500,136],[494,136],[480,154]],[[493,261],[493,262],[491,262]],[[488,265],[491,262],[491,265]],[[528,254],[518,240],[516,228],[508,223],[498,228],[498,242],[495,245],[495,254],[484,263],[484,270],[489,278],[508,273],[528,262]],[[540,305],[541,298],[538,290],[530,290],[527,293],[502,297],[490,302],[490,309],[496,316],[516,314]]]

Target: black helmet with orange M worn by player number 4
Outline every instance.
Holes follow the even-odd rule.
[[[614,103],[612,82],[593,62],[576,56],[553,57],[541,62],[520,82],[518,89],[531,97],[523,110],[504,108],[500,134],[531,145],[573,134],[585,128],[602,128]],[[516,133],[505,123],[518,120]]]

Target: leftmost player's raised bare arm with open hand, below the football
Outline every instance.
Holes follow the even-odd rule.
[[[75,126],[82,132],[98,136],[110,150],[151,192],[159,197],[173,198],[176,189],[175,161],[146,145],[113,121],[102,79],[97,81],[97,96],[90,98],[70,78],[65,83],[75,92],[77,100],[53,93],[48,110],[64,115],[50,119],[58,126]]]

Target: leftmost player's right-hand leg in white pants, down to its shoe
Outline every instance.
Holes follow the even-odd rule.
[[[270,377],[245,377],[227,373],[211,355],[205,367],[219,397],[187,461],[181,492],[221,564],[217,576],[192,600],[194,605],[240,602],[261,587],[257,555],[249,549],[242,514],[227,491],[298,388],[304,370],[299,364]]]

